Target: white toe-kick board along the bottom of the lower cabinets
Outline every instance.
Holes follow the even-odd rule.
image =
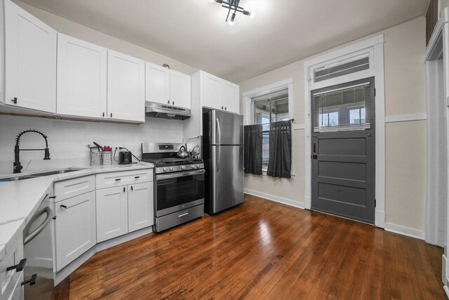
[[[77,268],[79,268],[83,263],[85,263],[88,259],[90,259],[93,254],[100,252],[102,250],[108,249],[110,247],[114,247],[118,244],[122,244],[123,242],[128,242],[130,240],[134,240],[135,238],[141,237],[142,235],[147,235],[148,233],[153,232],[153,226],[149,226],[147,228],[142,228],[140,230],[133,231],[132,233],[128,233],[126,235],[121,235],[119,237],[114,237],[111,240],[107,240],[105,242],[100,242],[93,246],[88,251],[84,252],[79,258],[69,263],[65,266],[59,273],[55,274],[55,286],[58,285],[62,280],[67,278],[70,274],[74,272]]]

